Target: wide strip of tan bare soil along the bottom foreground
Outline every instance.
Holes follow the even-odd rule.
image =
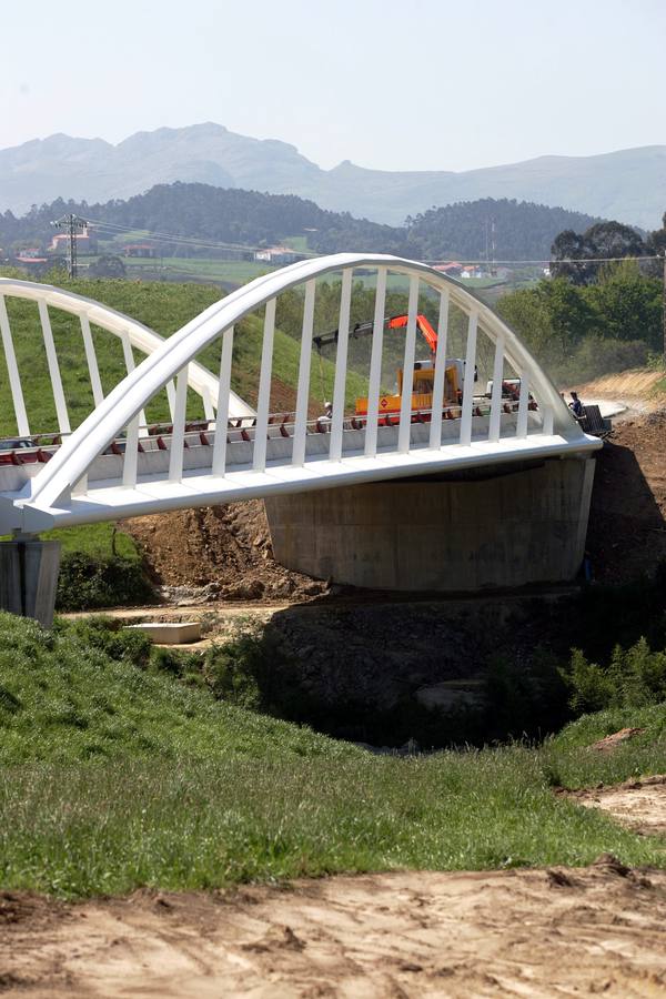
[[[666,872],[608,857],[2,905],[0,991],[22,999],[666,995]]]

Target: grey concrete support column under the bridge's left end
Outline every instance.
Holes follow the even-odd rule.
[[[0,609],[53,624],[60,542],[17,537],[0,542]]]

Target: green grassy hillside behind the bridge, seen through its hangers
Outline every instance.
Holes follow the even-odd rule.
[[[220,297],[219,289],[199,284],[167,284],[160,282],[133,281],[79,281],[68,286],[72,291],[97,299],[120,312],[125,312],[140,322],[168,336],[194,317]],[[26,405],[32,433],[57,431],[56,408],[48,373],[47,359],[37,315],[32,303],[8,300],[10,323],[13,332],[19,370],[22,374]],[[78,321],[65,313],[51,310],[51,323],[58,349],[61,375],[68,401],[72,426],[77,426],[92,408],[88,369]],[[261,360],[261,321],[254,317],[242,322],[238,329],[234,346],[234,372],[232,386],[254,404],[259,385]],[[124,375],[122,349],[118,339],[101,330],[93,329],[100,375],[105,392],[109,392]],[[273,359],[273,374],[282,382],[295,386],[299,366],[299,344],[278,331]],[[138,362],[140,356],[135,359]],[[211,371],[220,363],[219,344],[209,347],[199,359]],[[334,366],[323,362],[324,392],[322,393],[319,361],[312,362],[312,398],[323,402],[322,395],[330,395],[333,385]],[[347,398],[364,394],[365,382],[350,375]],[[0,363],[0,434],[17,433],[13,408],[9,392],[9,381],[3,363]],[[165,393],[148,406],[150,422],[168,421],[169,410]],[[190,398],[188,415],[202,415],[199,400]]]

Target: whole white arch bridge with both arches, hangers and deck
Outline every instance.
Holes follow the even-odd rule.
[[[363,280],[375,282],[376,291],[367,403],[362,415],[354,415],[345,413],[345,395],[350,336],[354,334],[350,320],[354,274],[359,272]],[[317,279],[324,278],[340,279],[330,421],[313,418],[311,401],[313,336],[322,332],[314,329]],[[391,289],[396,280],[408,294],[404,380],[398,410],[387,417],[382,410],[384,327],[387,284]],[[280,296],[294,289],[303,292],[295,405],[293,412],[275,414],[271,412],[275,313]],[[437,316],[427,405],[418,405],[412,391],[417,376],[420,295],[421,301],[430,296]],[[37,304],[57,436],[31,435],[26,404],[29,375],[19,370],[11,309],[7,309],[13,299]],[[73,431],[61,376],[67,362],[51,322],[58,311],[80,319],[94,403]],[[234,329],[238,340],[243,335],[239,323],[253,313],[263,323],[256,406],[231,391]],[[460,394],[452,401],[447,397],[446,356],[454,339],[454,316],[464,376]],[[105,396],[94,346],[101,333],[93,337],[91,324],[120,339],[128,369]],[[167,340],[92,300],[6,279],[0,281],[0,331],[18,433],[16,446],[8,450],[6,445],[0,452],[3,534],[30,535],[53,526],[250,497],[585,455],[601,446],[582,432],[529,351],[490,307],[436,270],[394,256],[342,253],[295,263],[233,292]],[[215,343],[220,365],[212,374],[196,359]],[[134,351],[147,355],[139,364]],[[476,366],[493,380],[490,395],[485,394],[485,379],[474,380]],[[519,379],[515,398],[503,396],[502,383],[507,377]],[[171,422],[151,428],[145,408],[164,390]],[[203,418],[195,424],[188,416],[188,398],[193,395],[203,408]]]

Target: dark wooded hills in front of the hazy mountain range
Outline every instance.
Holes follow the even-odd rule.
[[[444,208],[432,208],[402,226],[383,225],[355,219],[349,212],[321,209],[313,201],[291,194],[262,194],[258,191],[214,188],[209,184],[158,184],[144,194],[127,201],[104,204],[58,199],[33,205],[17,218],[0,214],[0,245],[6,252],[20,245],[47,246],[51,222],[73,212],[84,219],[169,233],[202,243],[234,243],[246,246],[270,245],[290,238],[306,238],[316,253],[349,251],[396,253],[420,260],[461,258],[491,260],[547,260],[551,244],[565,229],[585,228],[596,220],[562,208],[485,198]],[[100,239],[111,238],[112,229],[100,229]],[[118,238],[120,242],[122,236]],[[161,241],[163,255],[214,256],[210,245],[189,248]]]

